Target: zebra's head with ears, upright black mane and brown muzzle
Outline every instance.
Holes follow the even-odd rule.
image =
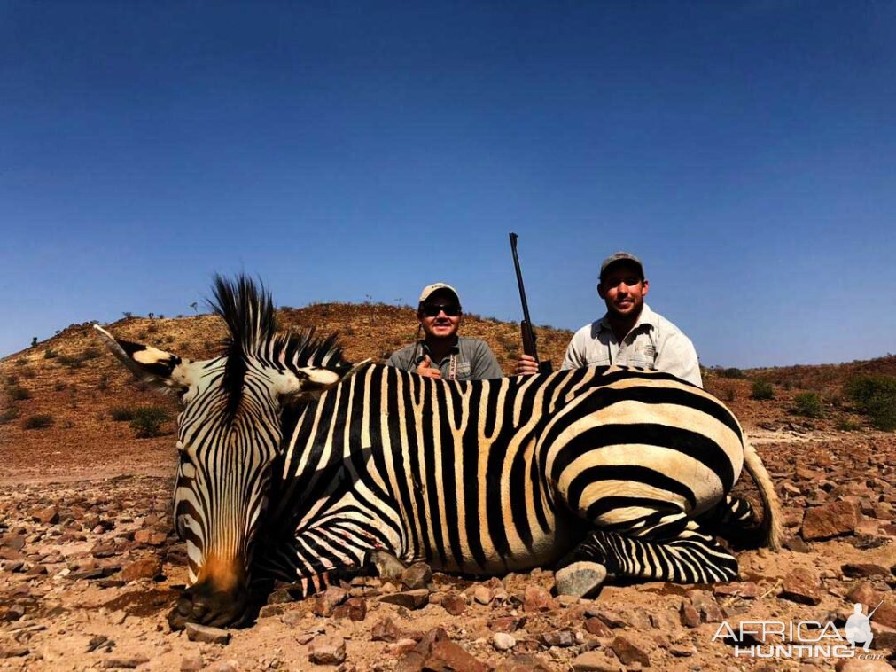
[[[234,625],[246,616],[253,540],[280,452],[281,411],[351,370],[335,337],[278,332],[270,294],[244,276],[216,277],[210,303],[229,334],[220,356],[208,360],[116,340],[97,327],[125,366],[183,402],[174,516],[190,585],[168,616],[174,627]]]

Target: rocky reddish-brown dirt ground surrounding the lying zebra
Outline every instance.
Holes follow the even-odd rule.
[[[145,330],[128,322],[118,331]],[[90,342],[73,333],[58,351]],[[739,551],[739,582],[610,584],[597,599],[568,600],[547,595],[547,571],[478,582],[436,574],[422,592],[371,578],[303,602],[277,590],[254,625],[197,634],[172,632],[165,618],[186,580],[185,546],[171,530],[173,424],[168,435],[135,438],[110,409],[151,392],[111,358],[68,370],[44,361],[44,347],[53,344],[0,366],[9,385],[31,391],[16,402],[21,416],[0,425],[0,669],[892,669],[896,434],[794,418],[783,390],[763,405],[747,399],[744,381],[707,382],[731,402],[784,504],[786,547]],[[51,430],[23,428],[46,409]],[[751,494],[748,478],[738,489]],[[822,643],[842,643],[831,628],[843,632],[853,603],[867,611],[881,600],[865,660],[818,650],[755,659],[749,647],[797,635],[748,636],[741,650],[715,637],[726,624],[814,621],[803,640],[827,633]],[[200,641],[216,637],[227,641]]]

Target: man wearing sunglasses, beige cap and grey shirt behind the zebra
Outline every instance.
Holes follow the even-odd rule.
[[[420,293],[418,335],[425,338],[392,353],[389,366],[429,378],[484,380],[504,375],[485,341],[457,335],[461,297],[451,285],[436,282]]]

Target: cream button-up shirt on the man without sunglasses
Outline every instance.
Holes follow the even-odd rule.
[[[647,304],[621,343],[616,340],[606,314],[575,332],[561,369],[612,364],[666,371],[688,383],[703,386],[694,344],[675,324],[654,313]]]

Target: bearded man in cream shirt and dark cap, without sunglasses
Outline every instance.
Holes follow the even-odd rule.
[[[627,252],[600,264],[598,294],[607,314],[573,335],[562,369],[582,366],[638,366],[659,369],[702,387],[694,344],[675,324],[644,303],[650,283],[641,260]],[[517,374],[537,374],[538,365],[521,355]]]

